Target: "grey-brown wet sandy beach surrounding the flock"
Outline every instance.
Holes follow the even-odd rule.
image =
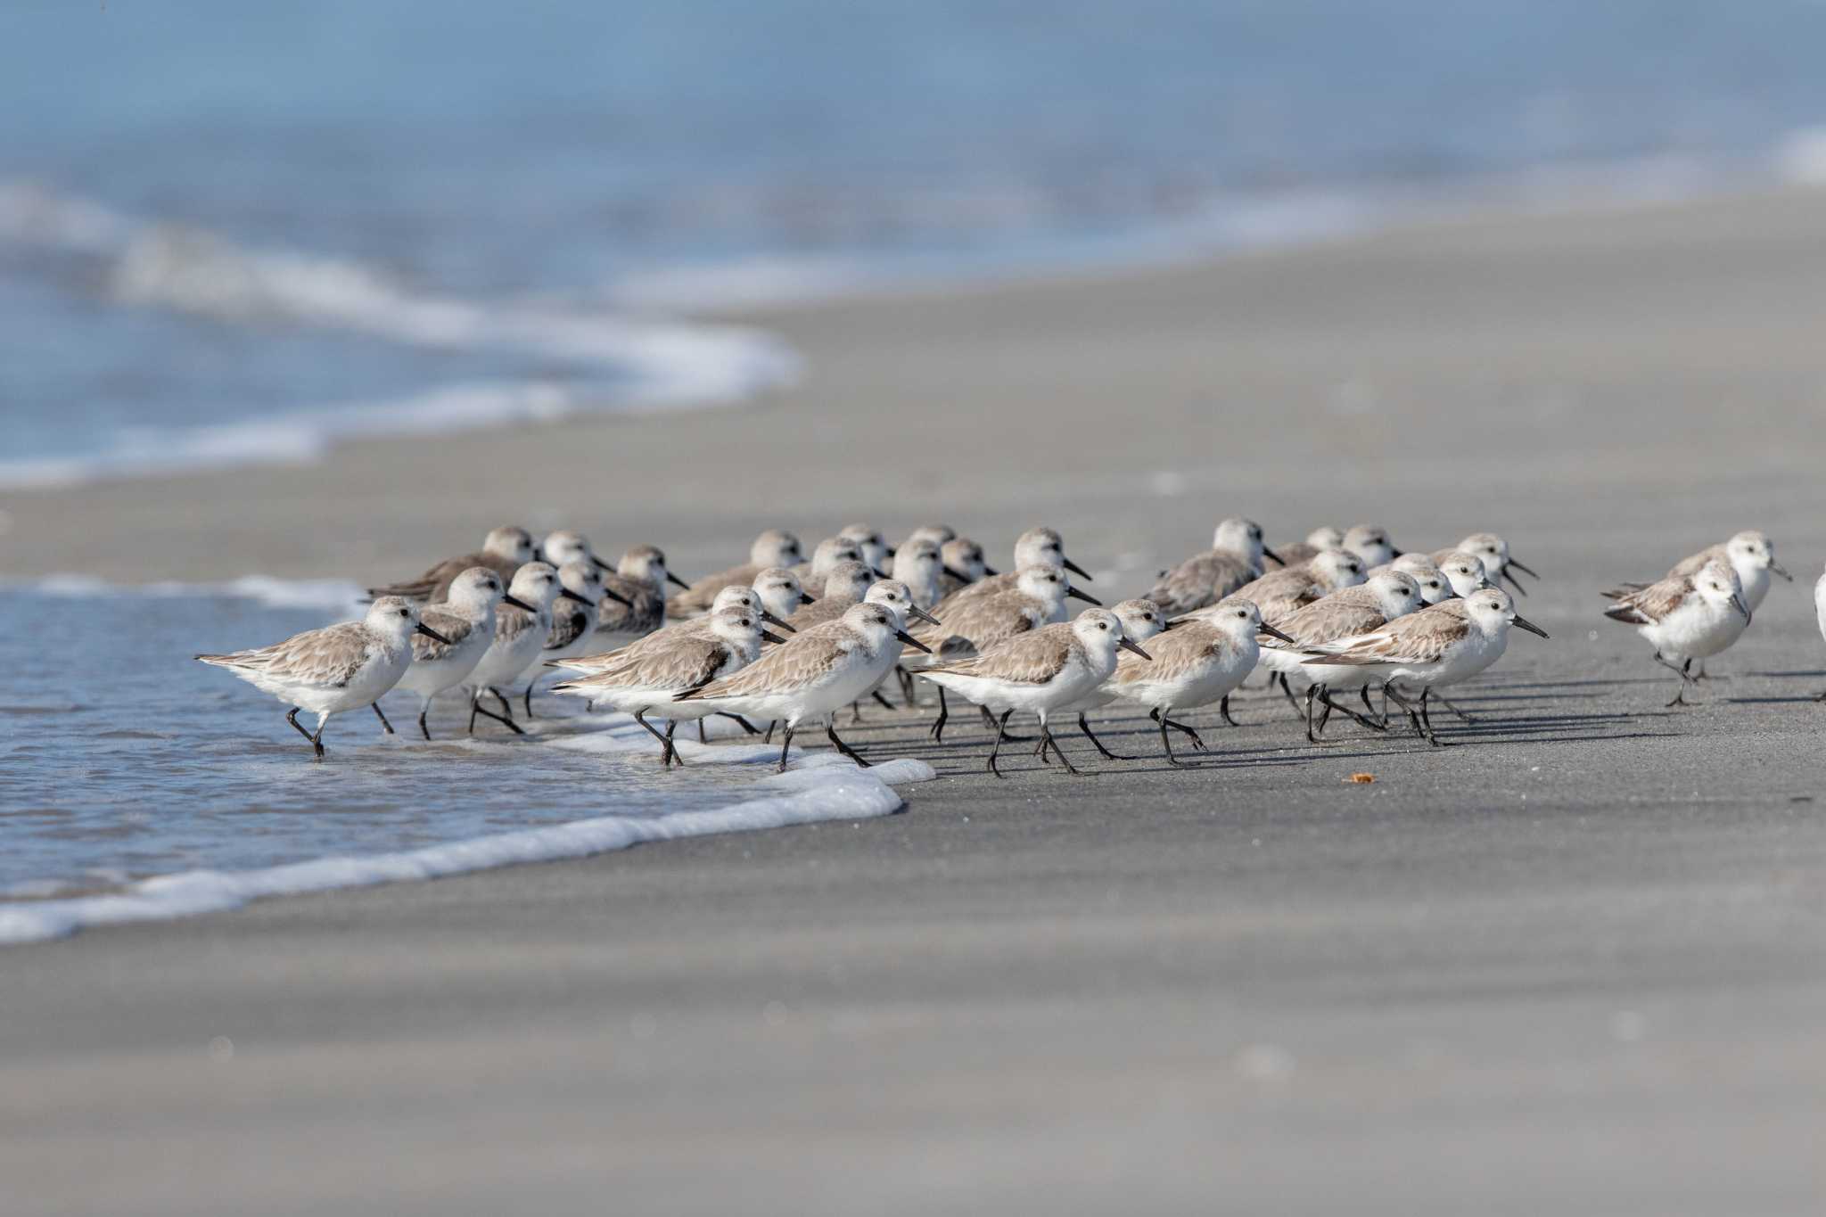
[[[9,578],[380,580],[508,520],[687,577],[780,524],[1209,542],[1495,529],[1543,580],[1459,746],[1282,702],[1209,765],[855,743],[900,816],[268,901],[0,956],[29,1213],[1826,1206],[1826,197],[1490,215],[745,321],[745,407],[5,493]],[[1671,713],[1596,591],[1762,527]],[[259,730],[265,730],[263,724]],[[1139,719],[1108,739],[1152,757]],[[1068,746],[1072,746],[1068,743]],[[1081,741],[1079,741],[1081,746]],[[1074,755],[1079,755],[1074,750]],[[1105,765],[1114,770],[1118,766]],[[1373,772],[1373,785],[1348,785]],[[108,1170],[97,1170],[106,1162]]]

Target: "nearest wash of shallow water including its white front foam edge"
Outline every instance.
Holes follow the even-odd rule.
[[[535,735],[478,726],[460,697],[416,699],[325,732],[203,650],[259,646],[347,619],[352,589],[243,580],[115,591],[89,580],[0,586],[0,943],[84,925],[205,912],[268,894],[436,878],[575,858],[648,839],[897,810],[887,783],[924,763],[858,770],[824,752],[774,775],[771,746],[716,744],[665,774],[626,715],[540,697]],[[734,724],[716,723],[712,732]],[[405,733],[411,732],[411,733]]]

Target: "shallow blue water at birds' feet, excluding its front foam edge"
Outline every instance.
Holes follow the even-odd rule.
[[[0,588],[9,673],[0,898],[718,808],[752,799],[771,772],[698,763],[661,774],[626,719],[577,717],[573,702],[550,695],[535,701],[537,739],[488,723],[466,739],[451,699],[433,710],[429,744],[416,737],[416,699],[396,697],[387,710],[402,735],[382,735],[367,712],[332,719],[329,755],[316,765],[285,706],[190,657],[274,642],[343,613],[175,589],[71,595],[79,589]],[[630,741],[635,750],[623,750]]]

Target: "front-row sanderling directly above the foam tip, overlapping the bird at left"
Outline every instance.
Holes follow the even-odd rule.
[[[681,692],[674,701],[710,702],[727,712],[785,723],[780,768],[787,766],[792,733],[805,719],[824,719],[824,732],[851,761],[867,765],[836,735],[833,715],[887,675],[900,648],[926,650],[897,624],[891,608],[853,604],[836,620],[802,629],[732,677]]]

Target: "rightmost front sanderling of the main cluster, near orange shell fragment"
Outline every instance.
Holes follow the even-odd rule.
[[[1543,639],[1547,631],[1516,611],[1516,602],[1501,588],[1474,591],[1464,600],[1443,600],[1379,629],[1337,642],[1307,648],[1306,666],[1315,670],[1359,668],[1380,681],[1426,743],[1443,746],[1426,713],[1428,693],[1435,686],[1457,684],[1477,675],[1503,657],[1508,628],[1517,626]],[[1419,704],[1393,692],[1393,686],[1419,686]]]

